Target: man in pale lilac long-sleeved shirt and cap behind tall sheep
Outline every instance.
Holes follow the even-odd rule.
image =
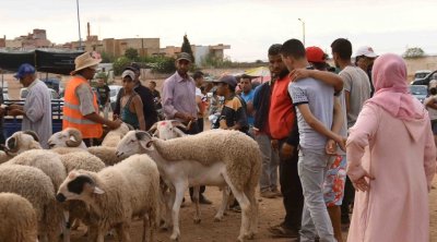
[[[178,55],[175,65],[176,73],[164,81],[162,105],[165,118],[176,119],[186,124],[189,130],[187,134],[197,134],[197,105],[196,105],[196,83],[188,75],[191,66],[191,56],[186,52]],[[200,186],[199,203],[212,204],[203,193],[205,186]],[[190,187],[192,197],[192,187]]]

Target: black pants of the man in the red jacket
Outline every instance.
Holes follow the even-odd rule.
[[[280,142],[280,147],[284,142]],[[299,230],[302,225],[302,211],[304,209],[304,193],[299,174],[297,172],[298,150],[294,155],[280,159],[280,184],[285,208],[283,226],[292,230]]]

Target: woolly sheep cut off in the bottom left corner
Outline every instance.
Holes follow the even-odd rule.
[[[37,241],[36,214],[26,198],[14,193],[0,193],[0,241]]]

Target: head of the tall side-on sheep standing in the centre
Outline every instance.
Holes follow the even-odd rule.
[[[152,136],[144,131],[129,131],[125,137],[118,143],[117,156],[129,157],[134,154],[143,154],[152,150]]]

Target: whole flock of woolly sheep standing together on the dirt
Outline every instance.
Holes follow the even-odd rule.
[[[194,222],[200,222],[199,186],[223,191],[214,217],[232,194],[241,207],[238,241],[252,239],[258,226],[256,186],[261,169],[258,144],[238,131],[185,135],[177,121],[161,121],[149,132],[122,124],[101,146],[86,147],[81,133],[67,129],[43,149],[37,135],[20,131],[0,153],[0,242],[70,241],[70,230],[87,227],[88,241],[108,232],[131,241],[133,219],[143,221],[142,241],[160,227],[180,238],[179,208],[194,187]]]

